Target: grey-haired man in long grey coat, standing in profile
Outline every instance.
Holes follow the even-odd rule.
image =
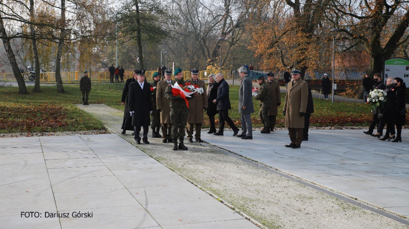
[[[238,70],[241,77],[239,89],[239,113],[241,119],[241,134],[236,135],[241,139],[253,139],[253,126],[251,114],[254,113],[252,89],[253,82],[247,74],[245,67]]]

